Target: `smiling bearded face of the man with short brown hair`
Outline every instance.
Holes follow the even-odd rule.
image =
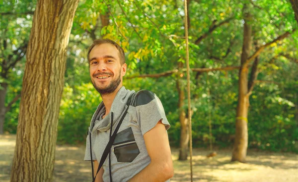
[[[121,65],[119,51],[111,44],[94,46],[89,54],[90,78],[94,88],[106,95],[122,87],[126,64]]]

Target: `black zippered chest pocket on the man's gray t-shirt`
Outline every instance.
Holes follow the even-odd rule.
[[[112,150],[118,162],[132,162],[140,153],[132,128],[125,129],[116,135]]]

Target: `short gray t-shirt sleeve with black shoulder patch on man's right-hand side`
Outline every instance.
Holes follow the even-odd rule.
[[[158,121],[165,126],[165,129],[170,128],[170,124],[165,116],[161,101],[151,91],[139,91],[135,100],[137,122],[141,128],[142,135],[151,130]]]

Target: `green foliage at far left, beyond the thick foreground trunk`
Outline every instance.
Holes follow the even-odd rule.
[[[0,89],[7,83],[5,106],[21,92],[24,58],[17,59],[20,47],[29,40],[32,12],[35,2],[31,0],[2,0],[0,2]],[[21,54],[22,56],[24,53]],[[16,62],[16,64],[13,64]],[[7,70],[7,72],[5,72]],[[16,133],[19,113],[18,99],[5,114],[4,131]]]

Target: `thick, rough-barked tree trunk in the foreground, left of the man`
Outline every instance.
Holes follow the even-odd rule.
[[[11,182],[51,182],[66,50],[78,0],[38,0],[26,54]]]

